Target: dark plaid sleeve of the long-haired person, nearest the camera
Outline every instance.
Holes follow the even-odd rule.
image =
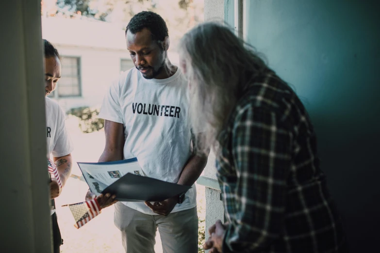
[[[261,108],[247,107],[236,117],[232,157],[237,177],[226,196],[232,219],[223,253],[262,252],[280,236],[291,166],[292,133],[286,128],[274,112]]]

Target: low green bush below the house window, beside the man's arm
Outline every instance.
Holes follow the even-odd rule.
[[[99,108],[79,107],[67,111],[67,114],[78,117],[83,133],[92,133],[104,127],[104,120],[98,117],[99,111]]]

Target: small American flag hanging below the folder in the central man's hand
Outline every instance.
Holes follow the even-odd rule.
[[[96,199],[64,206],[68,206],[70,208],[76,222],[74,225],[76,228],[82,227],[100,213],[100,206]]]

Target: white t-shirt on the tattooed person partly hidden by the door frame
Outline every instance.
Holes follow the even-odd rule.
[[[45,97],[46,108],[46,132],[47,132],[47,157],[63,157],[70,154],[74,147],[65,126],[65,114],[58,103]],[[50,215],[55,209],[50,210]]]

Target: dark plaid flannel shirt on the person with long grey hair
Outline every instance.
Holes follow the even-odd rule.
[[[229,225],[223,253],[346,252],[307,112],[269,72],[248,85],[219,135]]]

